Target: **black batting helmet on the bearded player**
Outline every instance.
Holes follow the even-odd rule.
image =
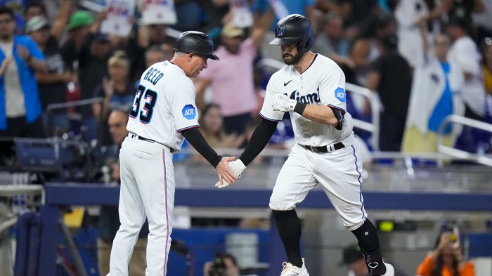
[[[290,46],[297,44],[299,53],[306,53],[314,43],[313,26],[300,14],[287,15],[278,21],[275,28],[275,39],[271,45]]]

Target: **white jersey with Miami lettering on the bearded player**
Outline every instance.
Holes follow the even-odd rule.
[[[273,96],[283,93],[301,103],[328,105],[345,112],[343,129],[320,124],[290,112],[296,142],[301,145],[325,146],[348,138],[352,133],[352,117],[347,113],[345,75],[330,58],[317,54],[311,66],[299,74],[292,65],[286,65],[272,75],[266,86],[266,96],[260,115],[271,121],[280,121],[284,112],[273,110]]]

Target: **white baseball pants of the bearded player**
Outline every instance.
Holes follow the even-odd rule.
[[[292,210],[318,183],[349,230],[359,228],[367,218],[362,196],[362,161],[358,140],[351,136],[345,147],[315,153],[299,144],[278,173],[270,197],[272,210]]]

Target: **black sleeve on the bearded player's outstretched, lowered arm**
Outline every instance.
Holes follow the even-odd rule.
[[[261,123],[254,129],[250,142],[239,157],[242,164],[247,166],[254,158],[256,158],[261,150],[263,150],[268,144],[273,133],[277,129],[278,121],[268,121],[267,119],[261,119]]]

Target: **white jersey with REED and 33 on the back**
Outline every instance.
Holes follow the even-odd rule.
[[[143,72],[127,130],[181,150],[181,131],[198,127],[195,86],[181,67],[169,61]]]

